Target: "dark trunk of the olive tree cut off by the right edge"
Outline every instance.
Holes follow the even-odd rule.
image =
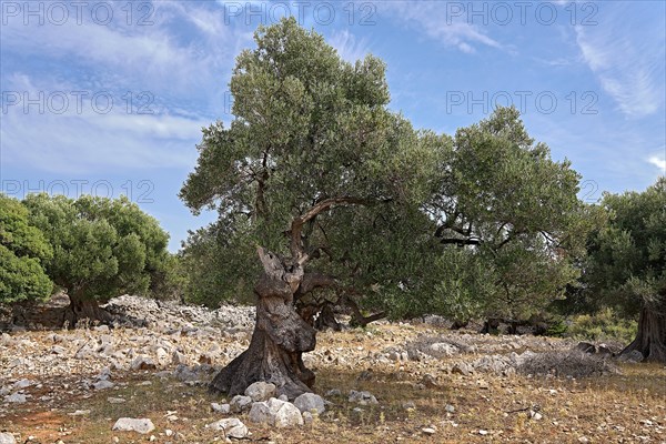
[[[644,361],[666,363],[666,297],[659,306],[647,304],[640,310],[636,339],[620,355],[634,350],[643,353]]]

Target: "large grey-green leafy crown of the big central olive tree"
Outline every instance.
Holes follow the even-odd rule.
[[[351,64],[283,19],[236,59],[235,119],[203,131],[180,196],[215,224],[192,233],[188,299],[246,294],[254,249],[299,256],[361,307],[393,317],[528,317],[575,281],[594,223],[579,175],[498,108],[455,137],[416,131],[387,109],[384,63]],[[293,235],[293,222],[337,199]],[[295,244],[295,245],[294,245]]]

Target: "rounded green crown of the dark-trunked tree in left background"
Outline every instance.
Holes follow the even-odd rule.
[[[47,273],[72,299],[145,294],[167,258],[168,234],[124,196],[32,194],[23,203],[52,245]]]

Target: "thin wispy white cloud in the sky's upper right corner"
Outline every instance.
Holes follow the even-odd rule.
[[[638,3],[639,4],[639,3]],[[599,24],[576,27],[583,60],[627,117],[642,118],[664,107],[665,32],[663,17],[636,17],[637,3],[605,2]],[[659,23],[652,23],[654,20]]]

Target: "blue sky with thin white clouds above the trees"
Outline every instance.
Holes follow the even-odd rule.
[[[1,191],[128,194],[178,250],[201,128],[229,122],[235,56],[292,14],[387,63],[391,108],[453,134],[514,103],[581,198],[666,174],[663,1],[0,1]]]

